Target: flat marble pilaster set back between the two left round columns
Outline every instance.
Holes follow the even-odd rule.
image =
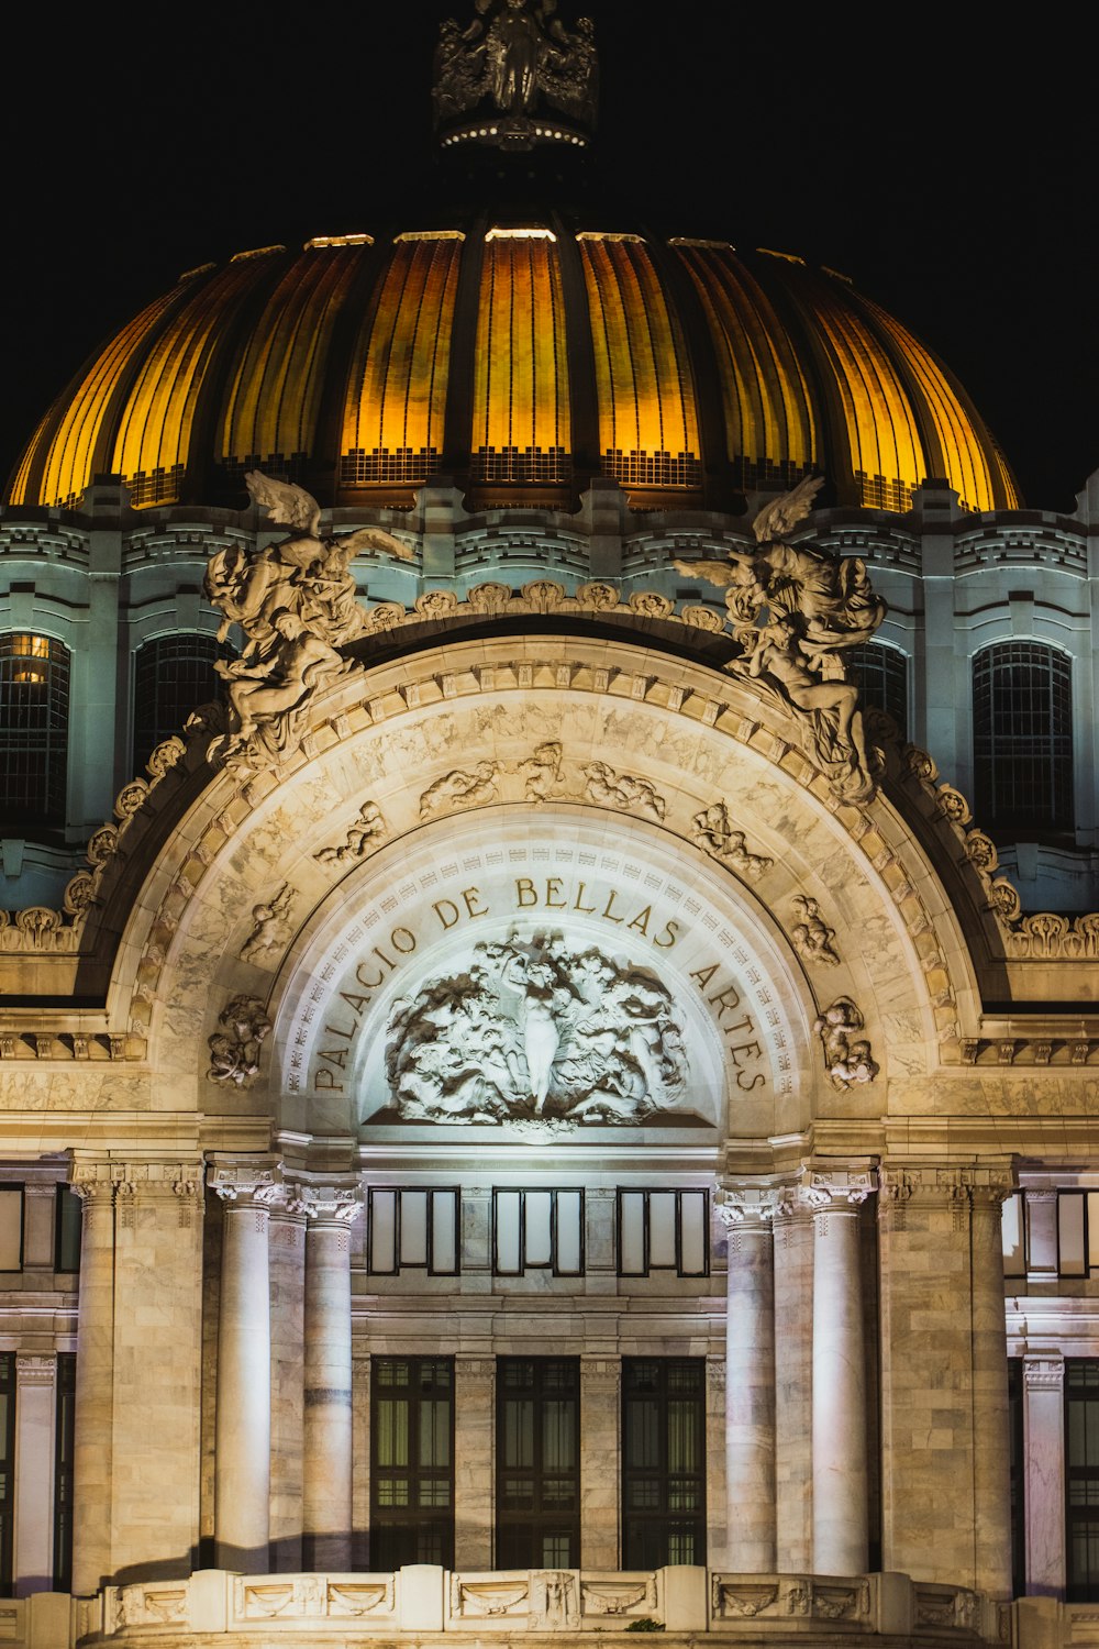
[[[302,1570],[305,1456],[305,1209],[272,1204],[270,1260],[270,1565]]]

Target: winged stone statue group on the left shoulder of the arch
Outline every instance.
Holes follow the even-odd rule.
[[[247,638],[239,658],[214,665],[227,683],[229,729],[208,755],[257,768],[293,750],[313,694],[358,668],[338,651],[366,625],[351,576],[354,556],[389,551],[410,561],[412,551],[374,526],[321,538],[320,505],[305,488],[259,470],[244,482],[252,503],[290,536],[252,554],[231,544],[206,569],[206,595],[224,613],[217,640],[234,623]]]

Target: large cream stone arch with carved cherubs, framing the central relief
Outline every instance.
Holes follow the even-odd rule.
[[[125,1012],[129,998],[130,1022],[147,1034],[153,1105],[265,1113],[308,1131],[302,1062],[320,1052],[311,1026],[343,1001],[356,945],[369,956],[386,900],[430,915],[438,886],[461,910],[465,854],[494,879],[484,932],[506,927],[522,910],[504,910],[506,874],[489,857],[526,853],[507,874],[540,886],[567,879],[562,854],[572,853],[575,882],[585,841],[603,856],[600,874],[608,856],[633,856],[643,861],[641,886],[661,882],[648,920],[621,923],[618,951],[629,966],[651,951],[677,991],[695,976],[690,1011],[697,1027],[707,1016],[710,1024],[699,1045],[709,1049],[702,1113],[712,1125],[722,1111],[715,1072],[728,1095],[745,1075],[737,1059],[750,1059],[730,1054],[737,1044],[713,1024],[720,1004],[707,1001],[723,988],[717,973],[705,976],[722,947],[738,999],[751,1001],[745,1041],[758,1042],[760,1031],[768,1075],[766,1103],[756,1083],[720,1131],[760,1138],[829,1116],[883,1115],[891,1085],[934,1077],[959,1014],[974,1011],[974,968],[910,821],[882,793],[858,806],[837,801],[794,740],[791,717],[750,686],[633,638],[486,637],[351,678],[318,698],[313,727],[283,770],[185,778],[181,816],[130,914],[112,980],[115,1011]],[[451,861],[456,872],[440,877]],[[257,955],[255,910],[282,887],[283,923]],[[839,961],[804,947],[799,955],[797,897],[816,900]],[[634,920],[646,909],[636,904]],[[537,909],[552,922],[560,907],[550,895]],[[596,914],[573,909],[568,920],[595,943]],[[669,920],[682,922],[676,943],[656,947]],[[603,927],[620,925],[606,917]],[[448,933],[440,927],[435,950],[420,951],[417,938],[427,973],[456,955],[458,935]],[[710,958],[704,940],[713,948],[722,933]],[[221,1083],[224,1098],[211,1106],[208,1039],[236,996],[262,1003],[275,1029],[255,1085]],[[814,1021],[837,999],[858,1008],[858,1034],[880,1065],[873,1082],[829,1080]],[[384,996],[386,1014],[392,1001]],[[376,1036],[374,1027],[362,1044],[356,1036],[356,1060],[369,1064],[361,1047]]]

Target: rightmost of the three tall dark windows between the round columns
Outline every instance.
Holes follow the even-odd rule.
[[[623,1359],[623,1568],[705,1563],[705,1364]]]

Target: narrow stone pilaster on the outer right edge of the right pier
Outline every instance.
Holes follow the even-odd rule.
[[[985,1172],[969,1182],[977,1586],[994,1598],[1012,1596],[1010,1415],[1000,1229],[1003,1197],[1010,1189],[1010,1174]]]

